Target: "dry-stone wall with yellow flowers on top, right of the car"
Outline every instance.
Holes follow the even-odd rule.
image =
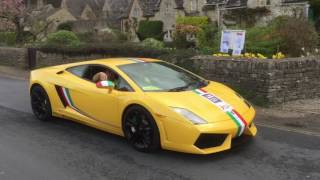
[[[320,97],[319,58],[227,60],[201,56],[192,61],[205,78],[226,83],[258,101],[279,104]]]

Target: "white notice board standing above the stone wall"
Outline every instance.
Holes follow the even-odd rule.
[[[244,48],[246,31],[244,30],[223,30],[221,35],[220,51],[228,53],[232,50],[232,55],[241,55]]]

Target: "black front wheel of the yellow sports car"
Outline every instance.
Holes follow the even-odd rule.
[[[127,109],[123,116],[122,129],[134,149],[154,152],[160,148],[158,126],[145,108],[132,106]]]

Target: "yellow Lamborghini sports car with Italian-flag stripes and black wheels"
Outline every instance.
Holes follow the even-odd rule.
[[[126,137],[138,151],[210,154],[255,136],[254,108],[235,91],[164,61],[114,58],[34,70],[43,121],[73,121]]]

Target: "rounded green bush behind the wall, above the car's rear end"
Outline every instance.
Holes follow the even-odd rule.
[[[46,46],[63,46],[74,47],[79,46],[80,40],[77,35],[71,31],[61,30],[55,33],[49,34],[45,45]]]

